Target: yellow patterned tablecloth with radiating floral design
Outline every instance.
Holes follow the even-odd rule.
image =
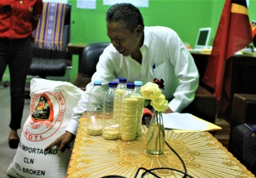
[[[67,178],[122,175],[134,178],[140,167],[147,169],[170,167],[184,171],[179,158],[167,145],[164,154],[155,156],[146,151],[147,126],[141,137],[131,142],[105,140],[86,134],[86,118],[79,119],[79,129],[70,158]],[[166,141],[184,160],[188,174],[193,177],[255,177],[216,138],[206,131],[175,133],[166,130]],[[137,177],[141,177],[140,170]],[[162,171],[161,177],[182,177],[179,172]],[[145,177],[153,177],[147,175]]]

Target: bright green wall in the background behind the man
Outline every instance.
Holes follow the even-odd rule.
[[[106,11],[110,6],[97,0],[96,9],[76,8],[72,4],[71,43],[109,41],[106,35]],[[212,45],[225,0],[149,0],[148,8],[140,8],[145,26],[166,26],[175,30],[182,41],[195,46],[200,27],[212,27],[209,45]],[[256,20],[256,0],[250,0],[249,19]],[[70,78],[77,75],[78,56],[73,56]]]

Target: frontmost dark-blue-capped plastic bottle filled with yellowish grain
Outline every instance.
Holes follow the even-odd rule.
[[[134,87],[134,84],[127,83],[127,89],[122,96],[120,138],[125,141],[136,138],[138,94],[134,92]]]

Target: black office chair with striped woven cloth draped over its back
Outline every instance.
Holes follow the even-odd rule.
[[[56,6],[58,3],[55,3]],[[51,3],[44,3],[44,8],[49,8],[51,6]],[[64,19],[64,26],[63,26],[63,45],[61,48],[49,48],[45,47],[47,45],[38,45],[38,42],[36,42],[36,35],[42,35],[40,33],[42,32],[36,32],[36,29],[33,34],[35,36],[35,41],[31,43],[33,48],[33,59],[31,66],[29,68],[28,75],[38,75],[40,78],[46,78],[47,76],[56,76],[60,77],[65,75],[67,68],[72,68],[72,56],[68,54],[66,51],[66,47],[70,40],[70,11],[71,11],[71,5],[65,4],[65,15],[63,15]],[[57,9],[60,10],[60,9]],[[55,9],[55,13],[56,9]],[[48,17],[47,12],[45,14],[42,14],[42,17],[40,20],[46,20],[47,22],[51,22],[49,19],[46,19]],[[45,18],[45,19],[44,19]],[[40,26],[40,22],[38,24],[38,28]],[[47,26],[47,24],[45,25]],[[40,30],[40,29],[39,29]],[[46,33],[46,32],[45,32]],[[45,34],[44,34],[45,35]],[[42,43],[45,41],[43,40]],[[62,43],[62,41],[61,41]]]

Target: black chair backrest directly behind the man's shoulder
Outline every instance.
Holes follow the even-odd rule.
[[[109,44],[109,42],[99,42],[86,45],[83,50],[83,77],[92,77],[100,55]]]

